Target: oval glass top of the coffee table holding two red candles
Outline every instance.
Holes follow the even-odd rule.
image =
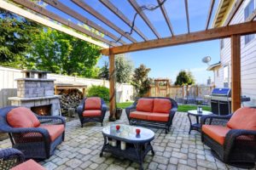
[[[119,125],[119,130],[116,129],[116,125]],[[140,135],[136,134],[136,129],[140,129]],[[124,124],[112,124],[102,129],[102,133],[108,137],[114,137],[116,139],[123,139],[126,141],[143,142],[154,139],[154,132],[148,128],[135,127]]]

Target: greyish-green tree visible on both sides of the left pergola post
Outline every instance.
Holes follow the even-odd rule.
[[[117,55],[115,57],[115,76],[116,82],[128,83],[131,82],[131,75],[133,71],[133,63],[130,59],[127,59],[125,55]],[[109,79],[109,67],[106,61],[100,69],[100,78]]]

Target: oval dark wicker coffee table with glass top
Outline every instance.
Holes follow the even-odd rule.
[[[140,129],[140,134],[137,135],[136,129]],[[119,130],[116,124],[104,127],[102,129],[104,137],[103,152],[112,153],[115,156],[125,157],[131,161],[137,161],[140,164],[140,169],[143,169],[144,157],[151,151],[154,156],[154,150],[150,142],[154,139],[154,132],[144,127],[134,127],[130,125],[119,125]],[[121,149],[121,145],[125,144],[125,148]]]

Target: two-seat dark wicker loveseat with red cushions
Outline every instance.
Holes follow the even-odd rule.
[[[170,131],[176,111],[177,102],[163,97],[137,99],[133,105],[125,109],[131,125],[164,128],[166,133]]]

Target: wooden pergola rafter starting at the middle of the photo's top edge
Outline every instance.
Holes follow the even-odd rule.
[[[142,19],[145,21],[145,23],[148,25],[148,27],[150,28],[151,31],[153,31],[154,35],[157,38],[160,38],[160,34],[158,33],[158,31],[156,31],[156,29],[154,28],[153,24],[150,22],[150,20],[148,20],[148,17],[146,16],[146,14],[143,13],[143,10],[140,8],[140,6],[138,5],[138,3],[135,0],[128,0],[129,3],[131,4],[131,6],[136,10],[137,14],[139,14]]]

